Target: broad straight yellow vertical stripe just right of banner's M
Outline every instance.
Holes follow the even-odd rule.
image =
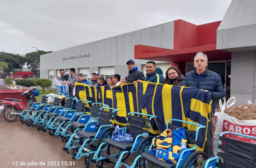
[[[164,123],[167,123],[172,118],[172,87],[173,85],[163,85],[162,89]]]

